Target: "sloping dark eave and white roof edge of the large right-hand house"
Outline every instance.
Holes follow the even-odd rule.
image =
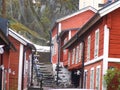
[[[120,7],[120,0],[113,2],[111,4],[106,5],[102,9],[100,9],[79,31],[63,46],[63,48],[68,48],[72,45],[78,37],[83,35],[92,25],[94,25],[98,20],[100,20],[103,16],[107,15],[108,13],[116,10]]]

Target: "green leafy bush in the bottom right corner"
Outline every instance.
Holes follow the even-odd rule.
[[[105,84],[108,90],[120,90],[120,70],[117,68],[108,69],[104,76]]]

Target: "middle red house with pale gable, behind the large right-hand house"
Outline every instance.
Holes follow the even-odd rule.
[[[59,66],[67,67],[68,51],[63,51],[61,47],[70,40],[70,38],[77,33],[78,29],[80,29],[95,13],[96,10],[94,8],[86,7],[56,21],[52,29],[53,71],[55,71],[58,64]],[[58,72],[56,73],[55,71],[55,74],[58,74]]]

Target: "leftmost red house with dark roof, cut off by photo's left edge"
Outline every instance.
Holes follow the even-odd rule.
[[[8,39],[8,22],[0,18],[0,90],[8,90],[9,85],[9,51],[15,47]]]

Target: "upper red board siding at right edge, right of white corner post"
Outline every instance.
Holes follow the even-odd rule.
[[[120,8],[111,13],[109,57],[120,58]]]

